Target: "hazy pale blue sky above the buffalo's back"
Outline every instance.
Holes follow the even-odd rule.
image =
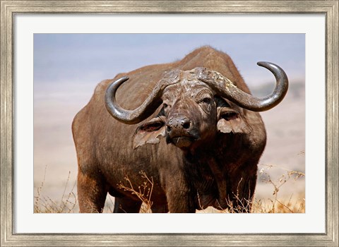
[[[229,54],[250,87],[273,80],[257,61],[278,64],[290,83],[304,80],[304,34],[35,34],[35,93],[73,83],[93,92],[117,73],[182,59],[202,45]]]

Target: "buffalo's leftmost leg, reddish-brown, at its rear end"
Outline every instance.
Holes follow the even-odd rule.
[[[103,179],[78,171],[78,201],[80,212],[102,212],[107,195]]]

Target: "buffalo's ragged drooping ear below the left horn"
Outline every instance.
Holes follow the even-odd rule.
[[[157,116],[150,121],[138,126],[133,136],[133,148],[140,147],[146,143],[160,143],[160,136],[165,136],[164,116]]]

